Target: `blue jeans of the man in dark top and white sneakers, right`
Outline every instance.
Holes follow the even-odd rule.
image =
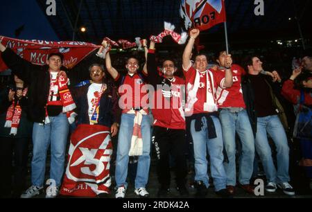
[[[275,143],[277,150],[277,171],[273,164],[272,150],[267,133]],[[256,150],[266,172],[268,182],[289,182],[289,148],[286,133],[277,115],[257,118]]]

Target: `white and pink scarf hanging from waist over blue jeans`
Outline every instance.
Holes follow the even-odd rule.
[[[135,114],[129,156],[139,156],[143,154],[141,122],[143,119],[143,115],[147,115],[147,113],[144,109],[141,109],[139,111],[135,109],[130,109],[127,114]]]

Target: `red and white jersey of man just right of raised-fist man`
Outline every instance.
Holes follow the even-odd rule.
[[[225,70],[220,70],[225,72]],[[232,68],[233,85],[232,87],[223,89],[218,87],[216,95],[218,107],[243,107],[245,108],[245,102],[243,99],[243,91],[241,89],[241,76],[245,75],[245,70],[237,64],[233,64]]]

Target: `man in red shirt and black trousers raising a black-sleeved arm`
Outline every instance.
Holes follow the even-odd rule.
[[[159,197],[169,193],[171,175],[169,157],[175,162],[175,182],[180,195],[188,195],[185,187],[187,161],[185,158],[185,118],[182,105],[184,80],[174,76],[177,71],[172,59],[164,60],[161,73],[157,71],[155,43],[150,42],[147,56],[148,79],[155,87],[151,104],[154,128],[152,141],[157,153],[157,176],[160,188]]]

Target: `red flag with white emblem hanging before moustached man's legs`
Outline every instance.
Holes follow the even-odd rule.
[[[61,195],[95,197],[110,193],[110,128],[103,125],[78,125],[71,134],[66,173]]]

